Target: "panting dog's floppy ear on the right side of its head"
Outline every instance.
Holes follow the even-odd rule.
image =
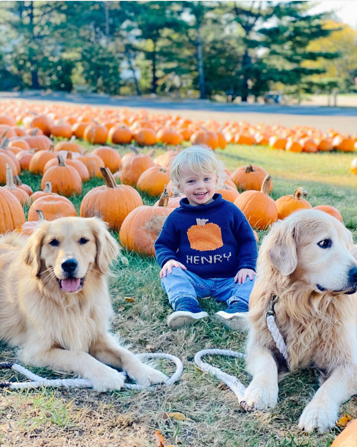
[[[109,265],[120,253],[119,244],[109,233],[105,222],[95,217],[88,220],[91,220],[92,232],[96,238],[96,264],[101,273],[107,273]]]

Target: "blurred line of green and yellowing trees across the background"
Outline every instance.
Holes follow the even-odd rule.
[[[350,91],[357,31],[311,2],[2,1],[0,90],[258,98]]]

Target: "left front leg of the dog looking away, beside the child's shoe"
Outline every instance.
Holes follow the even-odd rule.
[[[244,401],[249,409],[263,410],[277,405],[278,378],[277,363],[272,353],[261,346],[253,331],[249,335],[247,346],[247,369],[253,379],[244,393]]]

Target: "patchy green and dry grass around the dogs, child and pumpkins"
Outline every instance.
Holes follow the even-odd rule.
[[[159,147],[158,153],[161,150]],[[119,151],[123,153],[124,148]],[[355,155],[294,154],[237,145],[229,145],[216,154],[232,171],[249,163],[265,168],[273,177],[273,198],[304,186],[312,205],[329,204],[340,209],[357,241],[357,176],[349,172]],[[40,177],[24,172],[21,179],[34,190],[39,189]],[[84,183],[82,196],[73,198],[77,211],[83,195],[102,183],[101,179]],[[153,204],[156,198],[145,196],[143,200]],[[259,232],[260,240],[264,234]],[[176,332],[169,330],[166,318],[170,307],[160,286],[155,260],[126,249],[123,255],[129,265],[117,261],[113,266],[115,276],[109,278],[115,311],[113,331],[134,352],[155,350],[180,357],[185,365],[181,379],[171,388],[155,392],[5,391],[0,401],[0,444],[37,446],[44,440],[46,445],[53,446],[153,447],[156,430],[161,430],[167,444],[175,446],[327,447],[331,444],[339,432],[337,428],[323,435],[306,435],[297,428],[302,409],[319,386],[314,370],[286,377],[280,384],[280,401],[273,411],[244,413],[230,390],[218,388],[215,377],[202,374],[193,365],[194,354],[201,349],[244,350],[245,336],[227,331],[212,317],[222,305],[202,299],[202,307],[210,315],[206,321]],[[128,303],[126,297],[134,298],[134,302]],[[0,352],[1,361],[16,358],[15,352],[6,346],[0,346]],[[249,383],[250,377],[240,359],[214,356],[207,360],[237,375],[245,385]],[[168,374],[173,372],[168,362],[161,361],[158,366]],[[46,376],[55,374],[36,368],[34,371]],[[1,375],[4,380],[16,380],[12,371],[2,371]],[[184,413],[192,421],[164,419],[163,413],[171,411]],[[344,413],[357,416],[354,398],[342,405],[340,414]]]

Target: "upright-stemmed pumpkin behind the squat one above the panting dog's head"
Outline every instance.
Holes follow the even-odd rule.
[[[63,158],[57,157],[58,164],[51,166],[43,174],[41,181],[41,189],[43,190],[46,181],[52,184],[52,191],[69,197],[73,194],[82,194],[82,180],[79,173],[73,166],[66,165]]]

